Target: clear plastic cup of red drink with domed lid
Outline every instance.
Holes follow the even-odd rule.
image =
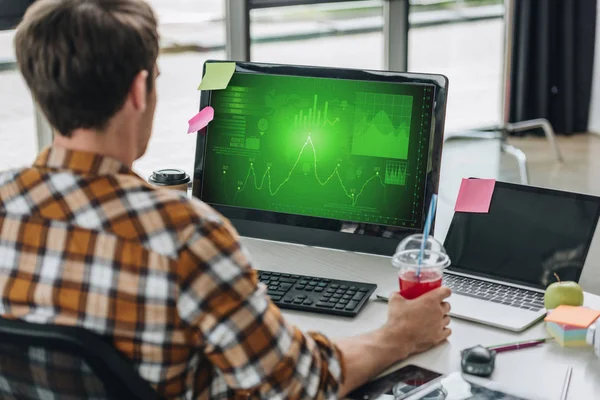
[[[405,239],[392,258],[392,265],[398,269],[400,294],[406,299],[416,299],[442,286],[444,268],[450,265],[450,257],[444,247],[432,237],[427,240],[419,264],[422,240],[423,235]]]

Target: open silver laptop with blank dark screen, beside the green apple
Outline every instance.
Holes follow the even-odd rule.
[[[496,182],[489,213],[457,212],[444,247],[451,316],[520,332],[546,315],[544,291],[578,282],[600,198]]]

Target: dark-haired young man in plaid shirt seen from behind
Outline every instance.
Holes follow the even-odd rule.
[[[0,175],[0,316],[109,337],[173,399],[343,397],[448,337],[448,289],[392,296],[387,322],[362,336],[302,333],[225,218],[132,172],[156,106],[144,1],[39,0],[15,45],[55,139]]]

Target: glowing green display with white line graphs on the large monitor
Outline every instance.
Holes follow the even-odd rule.
[[[433,88],[234,74],[213,91],[208,203],[419,227]]]

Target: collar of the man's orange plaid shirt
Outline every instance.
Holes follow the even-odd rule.
[[[131,168],[114,158],[63,147],[46,148],[38,155],[33,166],[70,170],[83,175],[135,175]]]

